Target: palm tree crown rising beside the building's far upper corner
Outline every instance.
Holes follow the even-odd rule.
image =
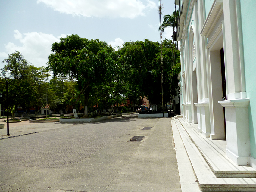
[[[161,25],[162,32],[164,31],[164,29],[166,27],[172,27],[173,28],[173,35],[172,35],[173,41],[176,41],[176,32],[175,32],[174,28],[176,27],[176,29],[177,29],[178,17],[179,17],[178,11],[176,11],[176,15],[175,15],[175,11],[173,11],[172,15],[164,15],[164,21]],[[175,20],[175,22],[174,22],[174,20]],[[160,31],[160,27],[159,27],[158,30]],[[179,46],[178,46],[178,42],[177,42],[177,48],[178,47]]]

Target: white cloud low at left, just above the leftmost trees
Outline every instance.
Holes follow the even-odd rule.
[[[24,35],[24,38],[23,38]],[[0,57],[7,58],[8,54],[14,53],[16,50],[24,56],[24,58],[36,67],[46,66],[48,62],[48,56],[51,54],[51,46],[54,42],[59,42],[60,37],[66,37],[61,35],[58,37],[52,34],[30,32],[21,34],[18,30],[14,31],[14,38],[19,39],[22,46],[17,46],[12,42],[8,42],[5,45],[5,52],[0,52]]]

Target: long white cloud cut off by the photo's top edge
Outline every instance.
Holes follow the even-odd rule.
[[[144,16],[145,11],[157,8],[148,0],[144,5],[140,0],[37,0],[55,11],[83,17],[124,17]]]

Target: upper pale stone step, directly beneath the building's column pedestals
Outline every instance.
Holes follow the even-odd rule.
[[[197,131],[196,124],[190,124],[179,118],[192,142],[198,148],[206,163],[216,177],[220,178],[256,178],[256,170],[251,166],[238,166],[226,156],[226,141],[205,138]]]

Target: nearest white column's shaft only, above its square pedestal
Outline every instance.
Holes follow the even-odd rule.
[[[242,44],[242,38],[239,36],[241,25],[237,15],[237,5],[234,0],[223,1],[224,25],[225,25],[225,65],[226,77],[228,83],[227,99],[246,98],[243,53],[240,50],[239,43]],[[241,29],[240,29],[241,30]],[[240,37],[240,38],[239,38]]]

